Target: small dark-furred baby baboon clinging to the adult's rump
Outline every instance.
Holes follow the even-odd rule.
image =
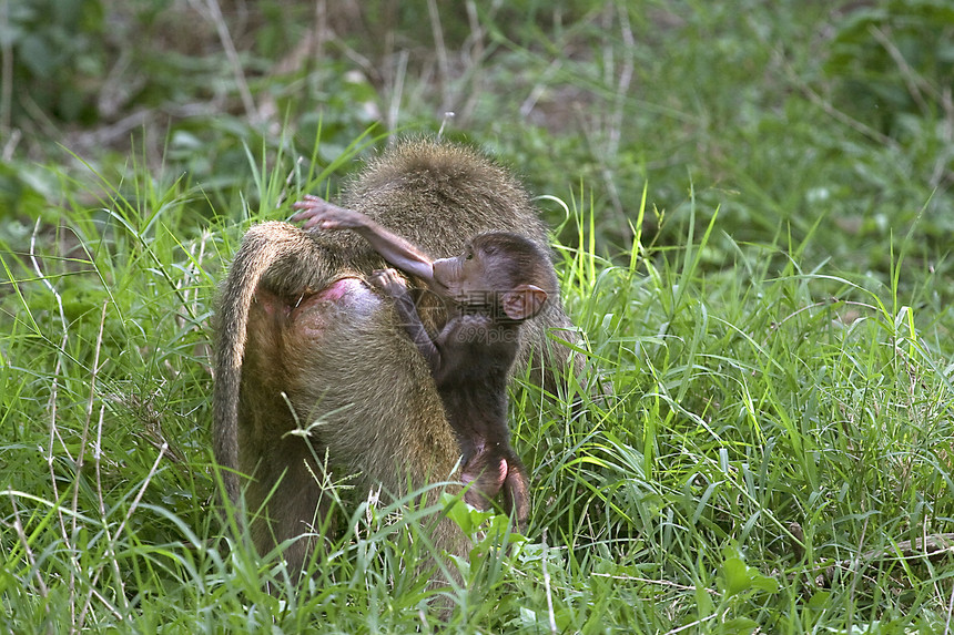
[[[371,279],[394,298],[404,328],[434,375],[464,453],[463,480],[473,483],[465,500],[487,509],[503,490],[507,511],[525,529],[529,479],[510,447],[507,375],[517,357],[520,322],[540,313],[558,287],[547,254],[524,236],[491,232],[469,240],[460,256],[432,260],[364,214],[317,196],[306,196],[295,208],[302,212],[292,221],[305,221],[304,228],[353,229],[388,263],[454,306],[453,317],[432,339],[394,269]]]

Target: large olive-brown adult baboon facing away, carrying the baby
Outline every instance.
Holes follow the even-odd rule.
[[[413,141],[372,161],[347,187],[343,205],[362,212],[436,257],[459,254],[465,238],[512,232],[546,250],[547,235],[527,193],[505,170],[449,143]],[[328,506],[323,460],[335,477],[366,492],[399,496],[449,478],[459,457],[429,369],[408,340],[393,303],[368,285],[384,260],[351,233],[309,235],[263,223],[242,240],[221,288],[215,325],[213,442],[229,496],[244,500],[261,553],[285,550],[300,569]],[[409,291],[424,289],[413,280]],[[449,316],[418,303],[427,328]],[[518,329],[518,365],[556,386],[554,370],[581,359],[547,329],[572,325],[556,295]],[[539,372],[539,375],[538,375]],[[313,426],[314,423],[314,426]],[[307,436],[292,433],[308,428]],[[240,473],[250,477],[240,480]],[[432,490],[429,501],[439,492]],[[266,503],[267,501],[267,503]],[[448,519],[433,532],[437,549],[466,556],[467,539]]]

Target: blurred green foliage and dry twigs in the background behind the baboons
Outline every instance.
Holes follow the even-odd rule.
[[[254,165],[297,178],[337,162],[334,195],[365,131],[434,132],[453,111],[446,134],[535,192],[577,193],[611,257],[649,182],[642,229],[660,244],[686,236],[693,203],[702,222],[720,211],[712,269],[737,244],[791,243],[886,279],[890,243],[909,234],[909,262],[948,266],[954,8],[941,0],[4,7],[18,90],[0,217],[55,195],[35,162],[116,181],[132,148],[156,178],[200,188],[199,218],[238,218],[258,204]]]

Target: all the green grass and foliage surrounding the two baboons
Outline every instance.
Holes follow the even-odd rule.
[[[217,549],[207,342],[248,224],[454,112],[612,390],[515,388],[532,523],[451,628],[952,632],[952,42],[944,0],[0,0],[6,629],[436,628],[418,512],[300,592]]]

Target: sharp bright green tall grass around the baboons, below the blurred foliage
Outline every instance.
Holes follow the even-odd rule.
[[[128,184],[138,203],[108,185],[95,207],[67,201],[65,257],[3,256],[8,626],[435,628],[413,564],[423,512],[347,510],[352,531],[297,592],[276,554],[215,542],[209,311],[238,232],[180,239],[196,192],[151,184]],[[688,232],[701,239],[636,240],[619,265],[572,212],[566,303],[611,388],[582,408],[515,389],[529,542],[475,552],[467,591],[449,592],[453,627],[926,633],[951,619],[954,563],[897,551],[951,530],[950,313],[897,284],[804,270],[803,245],[733,243],[706,270],[721,221],[708,212]],[[919,297],[940,293],[915,274]]]

